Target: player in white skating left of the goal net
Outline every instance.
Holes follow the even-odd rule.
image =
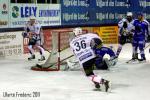
[[[38,48],[40,51],[41,58],[39,59],[39,61],[45,60],[44,49],[41,46],[41,26],[36,21],[34,16],[31,16],[30,21],[26,24],[25,33],[23,34],[23,36],[29,38],[28,49],[31,54],[31,57],[29,57],[28,60],[35,59],[33,47]]]

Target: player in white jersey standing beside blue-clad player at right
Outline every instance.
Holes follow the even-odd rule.
[[[132,35],[133,35],[133,14],[132,12],[127,12],[127,17],[123,18],[121,21],[118,23],[119,27],[119,46],[117,49],[116,55],[119,56],[122,46],[127,42],[127,40],[132,40]]]

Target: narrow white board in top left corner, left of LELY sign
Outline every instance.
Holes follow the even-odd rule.
[[[0,0],[0,28],[8,28],[9,0]]]

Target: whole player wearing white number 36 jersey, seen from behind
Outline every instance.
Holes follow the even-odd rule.
[[[104,85],[107,92],[109,81],[95,75],[93,72],[96,55],[91,48],[91,41],[94,38],[98,38],[101,41],[100,37],[92,33],[82,34],[81,28],[75,28],[73,32],[75,33],[75,37],[70,41],[70,47],[78,59],[80,66],[83,67],[86,76],[95,84],[96,88]]]

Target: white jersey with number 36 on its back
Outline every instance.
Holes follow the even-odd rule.
[[[93,38],[100,37],[93,33],[82,34],[76,36],[70,42],[70,47],[73,50],[75,56],[79,60],[79,63],[82,65],[84,62],[95,58],[94,51],[92,50],[90,43]]]

